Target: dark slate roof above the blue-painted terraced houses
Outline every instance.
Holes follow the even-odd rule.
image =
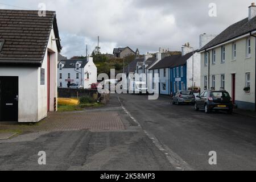
[[[198,50],[194,51],[196,53]],[[162,69],[162,68],[174,68],[180,65],[184,65],[187,63],[187,60],[193,56],[193,52],[189,52],[184,56],[181,55],[173,55],[164,57],[164,59],[160,60],[152,69]]]

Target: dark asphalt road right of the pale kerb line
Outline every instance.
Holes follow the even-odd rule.
[[[205,114],[171,105],[168,97],[119,95],[123,106],[160,143],[195,170],[256,170],[256,119],[226,113]],[[217,152],[217,165],[209,152]]]

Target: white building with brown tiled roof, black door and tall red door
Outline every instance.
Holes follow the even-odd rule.
[[[56,13],[0,10],[0,122],[38,122],[57,110]],[[28,26],[29,25],[29,26]]]

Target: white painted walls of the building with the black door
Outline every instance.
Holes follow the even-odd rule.
[[[47,48],[57,52],[53,30]],[[54,97],[57,97],[56,85],[57,53],[51,55],[51,93],[50,110],[54,110]],[[0,67],[0,76],[19,77],[18,122],[38,122],[47,116],[47,53],[42,68],[45,69],[45,84],[40,85],[40,68]]]

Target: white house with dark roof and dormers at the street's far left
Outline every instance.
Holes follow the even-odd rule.
[[[97,83],[97,67],[93,58],[61,60],[58,65],[58,86],[68,88],[77,84],[78,88],[90,89]]]

